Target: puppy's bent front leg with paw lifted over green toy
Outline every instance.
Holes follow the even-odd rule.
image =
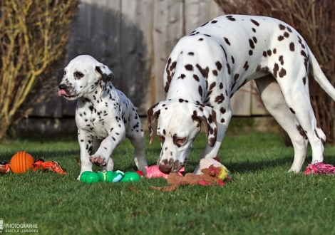
[[[105,167],[108,164],[108,160],[110,159],[110,155],[116,146],[120,144],[123,140],[125,140],[125,131],[123,128],[117,128],[114,130],[112,128],[110,135],[105,138],[100,144],[100,147],[96,151],[94,155],[90,157],[91,162],[95,163],[97,166]],[[110,161],[111,162],[111,161]],[[110,167],[107,167],[108,170]]]

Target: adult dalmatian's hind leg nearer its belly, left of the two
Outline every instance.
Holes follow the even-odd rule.
[[[289,171],[299,172],[306,157],[308,140],[301,130],[300,124],[294,113],[289,109],[282,95],[277,80],[273,75],[254,80],[265,108],[287,132],[294,147],[294,160]]]

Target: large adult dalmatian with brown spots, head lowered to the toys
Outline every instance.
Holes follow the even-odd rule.
[[[232,117],[230,98],[249,80],[256,82],[265,108],[292,140],[289,171],[301,170],[308,142],[312,162],[322,162],[326,136],[311,108],[309,71],[335,100],[335,89],[304,39],[277,19],[220,16],[181,38],[165,67],[166,100],[148,110],[150,143],[158,118],[159,169],[177,172],[185,164],[200,122],[207,134],[200,158],[216,157]]]

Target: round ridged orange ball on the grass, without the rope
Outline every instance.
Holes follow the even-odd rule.
[[[11,167],[11,171],[20,174],[26,172],[28,169],[33,168],[33,156],[29,155],[27,152],[16,152],[16,155],[11,157],[11,162],[9,165]]]

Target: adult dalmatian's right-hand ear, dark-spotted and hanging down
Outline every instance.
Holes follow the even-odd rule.
[[[204,123],[207,143],[210,147],[213,147],[215,142],[217,142],[217,113],[205,105],[197,105],[196,107],[193,111],[192,119],[200,120]]]

